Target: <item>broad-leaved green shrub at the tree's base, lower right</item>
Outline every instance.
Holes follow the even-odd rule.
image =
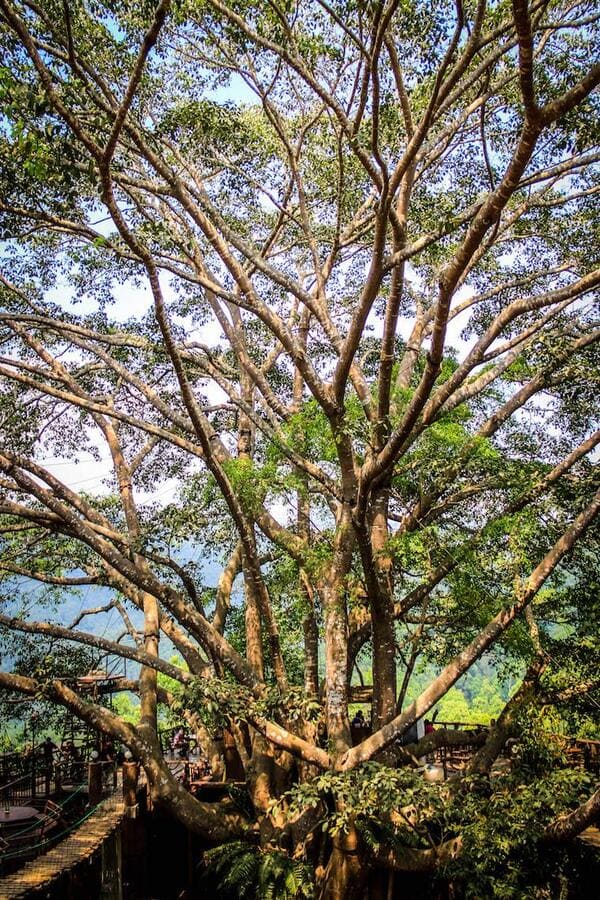
[[[295,786],[274,811],[285,807],[295,816],[316,809],[322,832],[356,827],[372,852],[382,846],[396,846],[399,853],[403,847],[428,849],[431,839],[443,843],[460,836],[460,854],[440,874],[460,885],[466,898],[545,896],[537,892],[559,867],[556,848],[544,849],[540,837],[557,815],[583,802],[594,784],[581,770],[556,768],[560,750],[552,741],[546,745],[539,731],[524,729],[521,747],[513,771],[491,783],[478,776],[430,784],[419,771],[368,763]]]

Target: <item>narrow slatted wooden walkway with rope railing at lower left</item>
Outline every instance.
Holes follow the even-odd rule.
[[[20,900],[42,890],[98,850],[124,815],[120,796],[109,797],[53,850],[0,879],[0,900]]]

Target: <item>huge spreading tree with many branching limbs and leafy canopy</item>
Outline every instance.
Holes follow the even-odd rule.
[[[473,844],[486,802],[423,786],[398,739],[484,654],[522,683],[473,777],[523,710],[597,691],[597,19],[0,0],[0,622],[136,661],[140,722],[49,656],[0,687],[122,740],[189,827],[287,848],[323,897]],[[84,451],[111,469],[99,493],[53,466]],[[58,598],[43,621],[32,580]],[[109,589],[119,640],[61,621],[81,585]],[[251,813],[171,777],[159,673],[205,740],[231,727]],[[540,844],[597,812],[584,792],[556,819],[582,799],[565,782]]]

